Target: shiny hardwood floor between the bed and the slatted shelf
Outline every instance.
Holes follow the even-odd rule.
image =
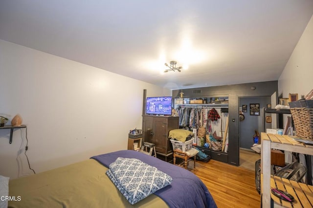
[[[218,208],[261,207],[261,198],[255,189],[254,171],[216,160],[208,163],[197,161],[196,169],[190,161],[188,169],[203,181]]]

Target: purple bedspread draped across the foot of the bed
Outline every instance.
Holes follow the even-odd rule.
[[[173,182],[154,193],[163,199],[169,207],[217,208],[212,195],[202,181],[194,173],[179,166],[133,150],[115,151],[91,158],[109,168],[109,165],[114,162],[117,157],[139,159],[170,175],[173,178]]]

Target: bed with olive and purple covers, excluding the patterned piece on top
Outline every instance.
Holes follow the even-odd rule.
[[[106,174],[117,158],[136,158],[170,175],[172,183],[131,205]],[[141,152],[125,150],[96,155],[88,160],[9,181],[9,208],[36,207],[212,207],[213,197],[192,172]]]

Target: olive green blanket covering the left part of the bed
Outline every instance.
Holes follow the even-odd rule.
[[[154,194],[131,205],[106,175],[108,169],[94,159],[9,181],[9,208],[164,208]]]

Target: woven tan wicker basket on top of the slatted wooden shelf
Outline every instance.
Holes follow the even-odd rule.
[[[313,140],[313,108],[291,108],[297,137]]]

